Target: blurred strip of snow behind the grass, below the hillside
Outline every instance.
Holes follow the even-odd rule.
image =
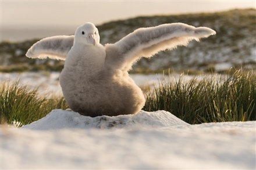
[[[0,81],[13,82],[17,78],[20,79],[20,84],[27,85],[29,88],[38,87],[38,92],[42,94],[62,95],[61,86],[59,85],[59,72],[23,72],[23,73],[0,73]],[[162,74],[131,74],[130,77],[138,86],[158,86],[159,81],[168,79],[169,76]],[[179,79],[179,74],[173,74],[173,79]],[[184,81],[189,81],[191,76],[184,77]]]

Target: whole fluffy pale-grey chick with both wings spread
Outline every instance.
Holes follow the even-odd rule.
[[[98,29],[86,23],[77,28],[74,37],[42,39],[29,49],[27,56],[44,58],[46,55],[62,60],[67,56],[60,84],[73,111],[91,117],[136,114],[143,108],[145,98],[129,77],[133,64],[141,57],[151,57],[160,50],[172,50],[214,34],[207,27],[162,24],[139,28],[115,44],[102,46]]]

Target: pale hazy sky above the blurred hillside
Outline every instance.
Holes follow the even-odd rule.
[[[73,34],[90,21],[96,26],[137,16],[218,12],[256,8],[255,1],[2,1],[1,41]],[[18,31],[17,31],[18,30]],[[19,31],[20,30],[20,31]],[[27,31],[27,32],[26,32]],[[44,32],[45,35],[42,35]]]

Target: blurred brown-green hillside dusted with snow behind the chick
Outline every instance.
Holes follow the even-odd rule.
[[[200,42],[190,42],[168,52],[159,52],[150,60],[142,59],[134,72],[150,73],[162,70],[218,71],[230,67],[256,70],[256,10],[234,9],[226,12],[197,13],[169,16],[147,16],[112,21],[97,26],[101,44],[114,43],[139,27],[164,23],[186,23],[195,27],[209,27],[217,34]],[[74,28],[75,30],[75,28]],[[61,71],[62,61],[33,60],[25,56],[38,39],[19,43],[1,42],[1,71]]]

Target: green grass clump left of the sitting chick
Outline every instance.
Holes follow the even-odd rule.
[[[19,80],[0,86],[0,123],[15,124],[20,127],[45,117],[56,108],[66,109],[63,97],[39,95],[38,89],[20,85]]]

